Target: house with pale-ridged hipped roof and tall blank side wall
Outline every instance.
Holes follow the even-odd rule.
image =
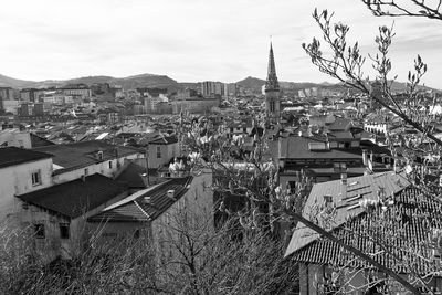
[[[90,232],[99,232],[102,239],[118,236],[148,238],[160,246],[165,234],[173,232],[179,217],[186,214],[194,222],[203,219],[214,229],[212,172],[202,170],[175,176],[167,181],[139,190],[127,198],[104,208],[87,219]],[[169,236],[170,238],[170,236]]]

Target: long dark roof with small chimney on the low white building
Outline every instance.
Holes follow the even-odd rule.
[[[115,146],[99,140],[39,147],[33,150],[54,155],[52,161],[63,167],[54,171],[54,173],[63,173],[101,161],[115,159],[116,155],[122,157],[140,152],[136,148]],[[103,160],[98,160],[96,156],[99,150],[103,151]]]

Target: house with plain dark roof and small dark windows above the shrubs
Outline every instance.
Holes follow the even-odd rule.
[[[86,219],[127,196],[127,188],[103,175],[90,175],[32,192],[22,201],[21,226],[34,236],[34,250],[52,260],[70,257],[87,241]]]

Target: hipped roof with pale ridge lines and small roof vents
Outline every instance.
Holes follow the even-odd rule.
[[[90,222],[152,221],[178,201],[189,189],[192,177],[172,178],[155,187],[136,192],[88,219]],[[167,196],[175,190],[173,199]]]

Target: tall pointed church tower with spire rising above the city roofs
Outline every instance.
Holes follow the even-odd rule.
[[[277,82],[272,42],[270,43],[267,81],[265,82],[265,112],[269,118],[280,119],[280,83]]]

